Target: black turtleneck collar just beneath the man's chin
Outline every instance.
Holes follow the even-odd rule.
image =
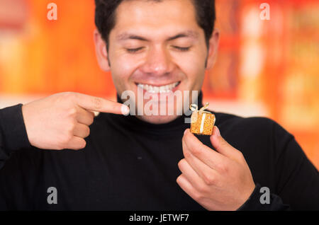
[[[203,106],[202,103],[203,100],[203,93],[202,91],[199,92],[198,94],[198,108],[201,108]],[[120,96],[117,94],[117,101],[118,103],[123,103],[121,100]],[[137,130],[138,132],[145,131],[147,133],[150,132],[155,132],[155,133],[165,133],[163,131],[169,130],[169,131],[174,131],[174,130],[181,130],[184,129],[185,127],[189,127],[189,124],[185,123],[186,118],[190,118],[189,116],[186,115],[181,115],[177,117],[176,119],[172,120],[171,122],[167,122],[164,124],[153,124],[150,122],[146,122],[144,120],[140,120],[140,118],[136,117],[135,115],[114,115],[110,114],[110,122],[116,122],[118,125],[123,125],[125,127],[130,127],[130,129]],[[185,128],[186,129],[186,128]]]

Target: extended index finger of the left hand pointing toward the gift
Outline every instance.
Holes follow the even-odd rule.
[[[77,93],[77,105],[86,110],[96,111],[100,113],[114,113],[127,115],[130,108],[122,103],[116,103],[105,98],[87,96]]]

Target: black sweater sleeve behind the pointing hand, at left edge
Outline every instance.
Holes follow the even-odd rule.
[[[30,147],[22,104],[0,110],[0,169],[14,151]]]

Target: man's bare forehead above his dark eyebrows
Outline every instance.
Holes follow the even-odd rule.
[[[190,30],[201,30],[191,0],[130,0],[118,6],[111,33],[116,37],[123,33],[161,37],[185,31],[191,34]]]

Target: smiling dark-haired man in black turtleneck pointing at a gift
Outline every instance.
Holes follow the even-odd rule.
[[[189,131],[213,21],[213,0],[96,0],[96,56],[118,103],[59,93],[0,110],[1,209],[319,209],[318,171],[276,122],[213,112],[211,137]],[[174,113],[144,112],[150,99]]]

